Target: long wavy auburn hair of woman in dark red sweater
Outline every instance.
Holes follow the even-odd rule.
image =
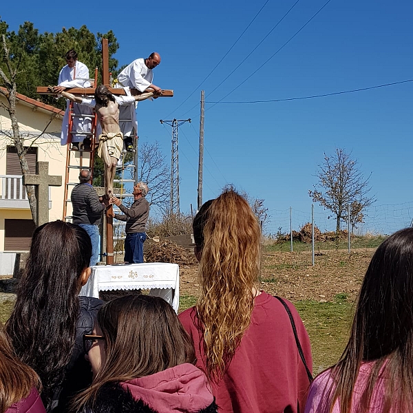
[[[200,255],[196,304],[210,379],[219,379],[248,328],[260,273],[261,229],[248,202],[229,188],[193,221]]]

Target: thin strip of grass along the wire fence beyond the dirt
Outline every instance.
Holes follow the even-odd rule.
[[[350,242],[350,248],[377,248],[384,240],[384,235],[376,235],[374,237],[352,237]],[[315,242],[314,244],[315,251],[324,251],[324,250],[346,250],[348,249],[347,240],[337,241],[326,241],[326,242]],[[290,251],[290,242],[282,242],[279,244],[271,244],[266,246],[266,251]],[[293,251],[302,252],[302,251],[311,251],[311,243],[304,243],[293,241]]]

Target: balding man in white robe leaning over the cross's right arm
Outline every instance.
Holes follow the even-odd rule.
[[[129,89],[138,89],[139,92],[145,92],[148,87],[151,87],[155,92],[162,92],[160,87],[152,83],[152,70],[159,63],[160,55],[156,52],[151,53],[147,59],[134,60],[118,74],[118,86],[123,87],[129,95]],[[120,107],[120,130],[123,133],[125,147],[128,151],[134,151],[134,136],[138,133],[136,107],[138,107],[138,103]]]

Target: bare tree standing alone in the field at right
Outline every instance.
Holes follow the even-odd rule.
[[[336,149],[333,156],[324,153],[324,162],[319,165],[317,173],[319,182],[314,185],[314,191],[308,191],[308,195],[334,214],[336,231],[340,231],[340,223],[347,218],[349,204],[350,222],[355,225],[363,221],[361,211],[376,201],[374,196],[368,195],[370,176],[371,173],[368,178],[363,176],[357,160],[351,158],[351,152]]]

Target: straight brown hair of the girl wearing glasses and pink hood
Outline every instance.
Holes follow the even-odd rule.
[[[105,383],[195,362],[189,335],[172,307],[160,297],[127,295],[109,301],[98,312],[98,324],[105,337],[106,361],[92,386],[74,399],[73,410],[93,405]]]

